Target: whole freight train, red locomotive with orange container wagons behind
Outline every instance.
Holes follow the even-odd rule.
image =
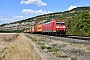
[[[66,34],[66,23],[64,20],[52,20],[44,24],[38,24],[26,29],[25,33],[42,33],[51,35],[65,35]]]

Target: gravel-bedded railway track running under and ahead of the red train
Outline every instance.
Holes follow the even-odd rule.
[[[40,36],[41,34],[36,34],[38,36]],[[55,40],[61,40],[61,41],[65,41],[65,42],[70,42],[70,43],[79,43],[79,44],[85,44],[85,45],[90,45],[90,37],[83,37],[83,36],[51,36],[51,35],[41,35],[44,36],[46,38],[50,38],[50,39],[55,39]]]

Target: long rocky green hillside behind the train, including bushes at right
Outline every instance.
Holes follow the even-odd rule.
[[[90,27],[89,13],[90,6],[87,6],[77,7],[70,11],[39,15],[25,20],[0,25],[0,32],[23,32],[24,29],[30,28],[39,23],[48,22],[55,18],[60,20],[64,19],[66,21],[68,35],[90,36],[89,29],[87,29]],[[86,20],[87,22],[85,22]],[[82,32],[83,34],[80,34]]]

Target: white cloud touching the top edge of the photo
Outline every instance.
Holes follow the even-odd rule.
[[[41,0],[22,0],[21,4],[36,4],[37,6],[46,6],[47,4],[42,2]]]

